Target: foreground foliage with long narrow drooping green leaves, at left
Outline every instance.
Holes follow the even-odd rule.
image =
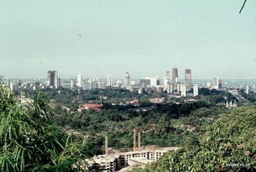
[[[86,141],[52,125],[45,98],[37,93],[23,104],[0,83],[1,171],[81,171],[81,160],[88,157]]]

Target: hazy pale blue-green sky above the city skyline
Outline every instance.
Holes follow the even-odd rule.
[[[0,2],[0,74],[6,78],[256,78],[256,1]],[[78,36],[82,35],[82,38]],[[42,61],[42,63],[40,63]]]

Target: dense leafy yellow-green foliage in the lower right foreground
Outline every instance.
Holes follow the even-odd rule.
[[[135,171],[255,171],[255,136],[255,107],[239,107],[221,114],[212,126],[202,127],[196,144],[167,153],[158,162]]]

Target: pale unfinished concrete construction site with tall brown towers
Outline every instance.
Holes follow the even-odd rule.
[[[138,142],[136,140],[138,136]],[[136,144],[138,143],[138,144]],[[133,150],[130,152],[118,152],[108,148],[108,136],[105,136],[105,154],[86,159],[89,166],[99,164],[106,172],[110,171],[131,171],[134,166],[144,168],[146,164],[160,159],[164,153],[176,151],[177,147],[159,148],[157,146],[141,146],[141,132],[133,129]],[[87,166],[88,166],[87,165]],[[87,169],[86,166],[83,169]]]

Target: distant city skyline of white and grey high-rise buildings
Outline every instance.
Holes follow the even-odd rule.
[[[160,77],[142,77],[139,79],[139,82],[131,81],[131,76],[128,72],[124,74],[124,82],[119,79],[116,82],[113,82],[112,75],[107,75],[107,81],[104,81],[99,78],[93,79],[83,79],[82,74],[77,75],[77,79],[71,79],[70,85],[66,82],[67,80],[62,81],[62,85],[60,84],[60,77],[58,77],[58,72],[56,70],[47,71],[47,79],[46,82],[42,82],[40,84],[30,83],[30,82],[21,82],[19,79],[14,79],[14,82],[10,79],[6,80],[6,84],[8,84],[11,90],[36,90],[44,89],[44,88],[60,88],[66,87],[71,89],[79,89],[79,90],[94,90],[94,89],[106,89],[106,88],[125,88],[126,90],[130,90],[131,92],[136,91],[137,93],[142,93],[146,91],[148,93],[163,93],[167,92],[174,95],[180,95],[181,97],[186,96],[197,96],[198,95],[198,84],[192,84],[191,77],[191,69],[185,69],[185,82],[179,81],[178,68],[173,68],[172,77],[170,79],[170,72],[165,71],[163,76],[163,81],[161,82]],[[69,82],[68,81],[68,82]],[[68,84],[68,85],[67,85]],[[213,82],[207,82],[206,85],[203,83],[202,86],[209,89],[216,90],[225,90],[222,86],[223,81],[218,77],[213,78]],[[226,82],[225,82],[226,84]],[[242,86],[243,88],[243,86]],[[251,91],[256,92],[255,82],[252,85],[246,84],[244,87],[245,93],[250,93]]]

